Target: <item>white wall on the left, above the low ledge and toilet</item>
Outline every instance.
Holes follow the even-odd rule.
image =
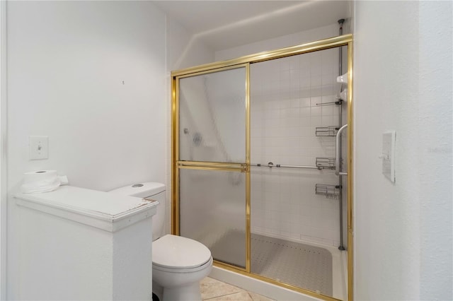
[[[103,191],[166,181],[164,13],[145,1],[14,1],[7,25],[9,193],[40,169]],[[31,135],[49,136],[48,160],[28,160]],[[27,223],[14,206],[8,298],[20,289],[16,226]]]

